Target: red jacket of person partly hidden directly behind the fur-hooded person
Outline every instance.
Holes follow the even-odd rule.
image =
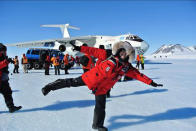
[[[81,46],[80,52],[86,53],[90,56],[98,58],[96,65],[99,65],[102,61],[107,59],[107,52],[104,49],[88,47],[88,46]]]

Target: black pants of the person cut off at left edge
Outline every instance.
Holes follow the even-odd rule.
[[[8,81],[2,81],[0,84],[0,93],[3,95],[5,103],[8,108],[14,106],[13,98],[12,98],[12,90]]]

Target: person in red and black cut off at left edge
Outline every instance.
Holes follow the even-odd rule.
[[[9,85],[9,63],[14,63],[11,58],[7,56],[7,48],[2,43],[0,43],[0,93],[5,99],[6,106],[10,113],[20,110],[22,106],[14,106],[12,98],[12,89]]]

